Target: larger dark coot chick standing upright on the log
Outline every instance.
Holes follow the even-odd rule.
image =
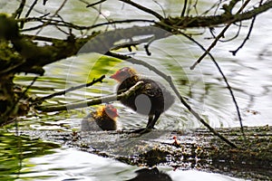
[[[156,121],[160,118],[160,114],[168,110],[174,102],[174,96],[163,85],[157,81],[139,77],[136,71],[129,67],[116,71],[111,78],[120,83],[117,94],[129,90],[138,81],[143,81],[140,89],[132,93],[129,98],[121,99],[123,105],[149,116],[146,128],[139,129],[140,132],[153,129]]]

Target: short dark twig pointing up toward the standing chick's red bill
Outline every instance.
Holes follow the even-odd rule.
[[[102,82],[102,80],[103,80],[105,77],[106,77],[105,75],[102,75],[100,78],[98,78],[98,79],[93,79],[91,82],[83,83],[83,84],[81,84],[81,85],[78,85],[78,86],[75,86],[75,87],[71,87],[71,88],[69,88],[69,89],[67,89],[67,90],[62,90],[62,91],[54,92],[53,94],[50,94],[50,95],[48,95],[48,96],[44,96],[44,97],[42,97],[42,98],[39,98],[39,99],[35,100],[34,103],[36,103],[36,102],[42,102],[42,101],[44,101],[44,100],[49,100],[49,99],[51,99],[51,98],[53,98],[53,97],[55,97],[55,96],[61,96],[61,95],[64,95],[64,94],[66,94],[66,93],[68,93],[68,92],[70,92],[70,91],[79,90],[79,89],[81,89],[81,88],[83,88],[83,87],[90,87],[90,86],[92,86],[94,83]]]

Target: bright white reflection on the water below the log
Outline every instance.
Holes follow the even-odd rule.
[[[135,171],[143,167],[128,166],[112,158],[99,157],[73,148],[58,149],[56,153],[44,157],[33,157],[27,164],[31,167],[28,174],[19,176],[18,180],[91,180],[121,181],[136,176]],[[26,169],[26,168],[24,168]],[[173,181],[238,181],[242,179],[202,172],[198,170],[172,170],[171,167],[159,167]]]

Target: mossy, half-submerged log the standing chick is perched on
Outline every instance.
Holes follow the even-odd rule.
[[[128,130],[73,133],[26,131],[24,134],[57,141],[102,157],[112,157],[130,165],[164,165],[243,178],[272,178],[272,127],[246,127],[246,140],[239,128],[217,130],[239,148],[230,148],[207,129],[155,129],[141,136]]]

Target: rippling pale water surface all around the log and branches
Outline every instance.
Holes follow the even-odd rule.
[[[17,3],[1,2],[2,12],[11,13]],[[55,10],[57,5],[48,2],[46,11]],[[161,3],[166,14],[177,15],[180,7],[175,6],[175,1]],[[146,4],[144,4],[146,5]],[[210,2],[202,3],[209,7]],[[39,5],[44,9],[43,5]],[[148,4],[154,10],[161,12],[160,6],[152,1]],[[116,7],[117,10],[116,10]],[[102,8],[103,14],[116,20],[122,19],[124,14],[131,18],[149,18],[147,14],[135,11],[129,5],[122,6],[117,2],[108,2]],[[128,13],[129,12],[129,13]],[[80,14],[88,13],[88,14]],[[199,12],[200,14],[201,12]],[[63,17],[77,24],[93,24],[93,15],[97,13],[86,10],[77,1],[70,1],[63,9]],[[248,27],[240,32],[238,39],[228,43],[219,43],[212,50],[219,65],[228,78],[228,82],[238,100],[238,106],[245,126],[271,125],[272,110],[272,42],[267,38],[272,33],[272,20],[269,18],[271,11],[257,16],[255,28],[248,43],[232,56],[229,50],[235,50],[248,33]],[[98,21],[102,21],[102,17]],[[244,25],[249,25],[246,22]],[[123,27],[125,27],[124,25]],[[216,32],[219,33],[219,29]],[[227,37],[237,33],[237,27],[228,30]],[[63,34],[56,33],[53,29],[44,29],[43,35],[54,34],[62,37]],[[194,30],[203,33],[202,30]],[[199,42],[206,46],[212,42],[203,37],[210,37],[209,32],[197,37]],[[134,50],[135,51],[135,50]],[[170,76],[179,88],[180,93],[186,97],[189,104],[209,122],[212,127],[238,127],[238,117],[234,104],[226,89],[219,71],[215,65],[206,57],[197,66],[196,70],[190,71],[189,66],[203,53],[198,46],[190,43],[182,36],[172,36],[151,44],[151,56],[147,56],[143,47],[139,47],[134,58],[149,62]],[[95,53],[78,54],[73,58],[56,62],[45,67],[45,75],[35,81],[30,93],[44,96],[57,90],[67,89],[71,86],[92,81],[102,74],[106,79],[94,86],[76,90],[65,96],[47,100],[44,105],[69,103],[78,100],[86,100],[92,97],[112,94],[115,91],[116,82],[109,79],[114,71],[123,66],[131,66],[142,75],[160,81],[166,86],[168,83],[162,80],[154,72],[142,67],[132,65],[129,62],[109,60]],[[18,75],[16,83],[28,85],[34,75]],[[118,109],[121,118],[121,127],[125,129],[136,129],[145,126],[146,117],[134,113],[123,107],[119,102],[113,102]],[[80,120],[95,107],[69,110],[68,112],[53,112],[48,114],[36,114],[26,116],[19,122],[19,130],[59,130],[71,131],[80,128]],[[194,119],[189,111],[179,101],[166,111],[160,118],[158,129],[193,129],[202,125]],[[15,131],[13,126],[0,130],[0,179],[4,180],[126,180],[130,179],[134,171],[141,167],[128,166],[111,158],[98,157],[72,148],[59,148],[58,145],[47,143],[39,139],[27,136],[15,137],[8,133]],[[228,176],[200,172],[198,170],[176,170],[171,167],[159,167],[160,170],[169,174],[173,180],[237,180]],[[1,177],[2,176],[2,177]]]

